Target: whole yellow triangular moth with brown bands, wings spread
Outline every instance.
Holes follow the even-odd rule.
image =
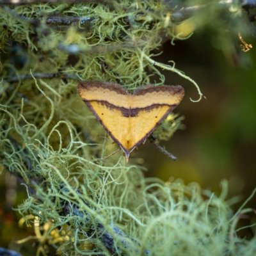
[[[119,84],[81,81],[77,90],[127,160],[184,97],[181,86],[151,85],[131,95]]]

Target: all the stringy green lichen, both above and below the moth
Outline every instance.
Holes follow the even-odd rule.
[[[28,189],[18,210],[20,223],[35,228],[38,254],[45,255],[47,244],[59,255],[255,253],[255,239],[237,236],[239,212],[233,214],[225,202],[225,182],[216,196],[181,180],[145,179],[136,159],[125,164],[120,154],[95,162],[116,145],[99,136],[104,130],[77,95],[77,80],[61,77],[117,81],[134,90],[156,74],[156,85],[163,84],[159,67],[196,85],[174,65],[152,60],[161,33],[177,38],[172,11],[161,1],[0,9],[6,52],[1,63],[0,163],[22,177]],[[50,26],[47,19],[54,15],[89,19],[76,26]],[[38,79],[19,78],[29,74],[39,74]],[[40,74],[58,76],[45,79]],[[159,140],[169,139],[179,127],[181,118],[176,117],[169,116],[156,130]],[[106,234],[113,237],[111,248],[104,242]]]

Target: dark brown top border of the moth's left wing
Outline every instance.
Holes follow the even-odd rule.
[[[118,94],[128,95],[127,90],[120,84],[104,81],[80,81],[77,86],[78,90],[93,90],[93,88],[108,89],[109,91],[115,91]]]

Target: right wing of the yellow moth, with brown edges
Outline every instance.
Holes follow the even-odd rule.
[[[166,116],[176,108],[184,97],[181,86],[145,86],[132,95],[130,119],[132,141],[131,152],[143,143],[147,137],[161,124]]]

